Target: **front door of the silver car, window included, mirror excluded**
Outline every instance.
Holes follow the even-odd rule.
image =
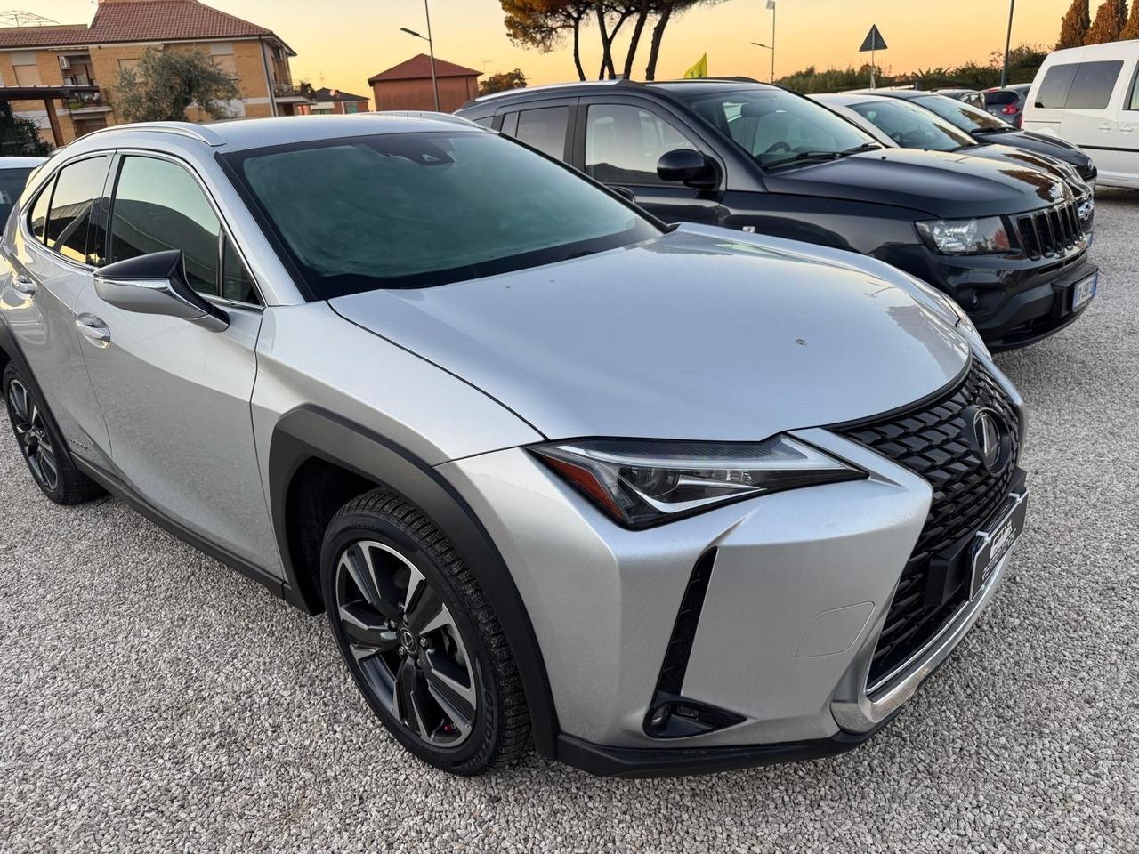
[[[187,164],[124,154],[113,164],[107,261],[179,249],[189,285],[221,305],[223,331],[126,311],[85,289],[83,355],[116,474],[169,519],[276,569],[249,401],[262,309],[218,207]]]

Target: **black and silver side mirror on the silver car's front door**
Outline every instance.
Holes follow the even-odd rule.
[[[186,281],[181,249],[107,264],[95,271],[95,293],[123,311],[181,318],[212,332],[229,328],[229,315]]]

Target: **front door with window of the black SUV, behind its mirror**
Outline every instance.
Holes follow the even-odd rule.
[[[689,187],[665,181],[656,164],[666,151],[690,148],[723,166],[693,129],[646,99],[596,96],[582,98],[571,162],[590,178],[631,194],[637,204],[665,222],[719,224],[722,188]]]

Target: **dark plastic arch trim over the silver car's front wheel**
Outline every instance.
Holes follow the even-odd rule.
[[[533,625],[498,547],[458,491],[405,447],[319,407],[303,404],[277,422],[269,446],[269,509],[285,569],[289,601],[314,614],[319,601],[304,593],[288,539],[289,487],[310,459],[339,466],[399,493],[434,522],[454,544],[494,608],[518,665],[530,708],[534,747],[552,758],[558,732],[554,696]]]

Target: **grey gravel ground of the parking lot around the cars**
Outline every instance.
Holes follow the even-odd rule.
[[[429,770],[322,618],[118,501],[50,504],[0,424],[0,849],[1139,851],[1139,196],[1098,215],[1095,304],[1000,359],[1032,409],[1008,583],[892,726],[816,763]]]

